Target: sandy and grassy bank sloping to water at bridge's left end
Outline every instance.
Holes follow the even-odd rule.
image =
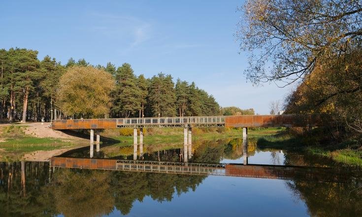
[[[48,126],[48,123],[0,124],[0,160],[45,160],[89,142]]]

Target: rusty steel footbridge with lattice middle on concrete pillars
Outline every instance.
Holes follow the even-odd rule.
[[[143,144],[143,128],[178,127],[184,128],[184,145],[192,143],[192,127],[242,127],[243,140],[247,141],[248,127],[291,127],[323,126],[322,115],[239,115],[239,116],[199,116],[199,117],[158,117],[158,118],[114,118],[114,119],[78,119],[55,120],[51,128],[89,129],[91,157],[94,149],[96,131],[96,151],[99,152],[101,129],[133,128],[133,144]],[[137,129],[139,129],[139,142]]]

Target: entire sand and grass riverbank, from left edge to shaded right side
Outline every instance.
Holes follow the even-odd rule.
[[[133,144],[132,129],[104,130],[101,135],[119,140],[116,146],[109,147],[110,153],[119,154],[116,147],[128,147]],[[284,127],[250,128],[249,145],[275,149],[299,149],[319,157],[328,157],[336,162],[362,166],[362,150],[359,140],[349,139],[335,144],[320,141],[321,130],[316,128],[310,134],[297,135]],[[73,148],[88,146],[89,140],[52,130],[45,123],[2,124],[0,125],[0,160],[46,159],[52,155]],[[180,128],[152,128],[144,130],[145,144],[174,148],[183,142],[183,130]],[[195,141],[215,141],[242,137],[242,129],[237,128],[193,128]],[[328,145],[326,145],[328,144]],[[132,147],[131,147],[132,148]],[[112,150],[116,149],[116,150]]]

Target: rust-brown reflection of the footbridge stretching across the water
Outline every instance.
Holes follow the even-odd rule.
[[[260,164],[187,163],[165,161],[52,157],[51,166],[60,168],[101,169],[190,175],[252,177],[264,179],[305,180],[315,182],[350,182],[343,169]]]

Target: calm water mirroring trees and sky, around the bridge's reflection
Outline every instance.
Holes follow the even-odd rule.
[[[48,162],[2,162],[0,216],[362,216],[359,168],[297,150],[251,145],[245,149],[241,144],[234,139],[196,142],[192,147],[144,145],[142,152],[136,147],[136,153],[133,146],[112,145],[101,148],[95,158],[226,163],[243,168],[247,156],[251,168],[298,166],[298,174],[262,179],[74,168],[53,171]],[[87,157],[89,150],[66,156]],[[321,169],[328,170],[333,180],[314,181]],[[343,175],[338,175],[341,171]]]

